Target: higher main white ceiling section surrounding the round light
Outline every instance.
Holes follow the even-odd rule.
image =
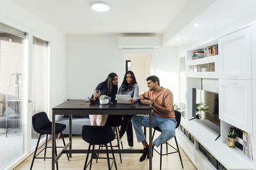
[[[14,0],[66,34],[161,34],[189,0],[102,0],[110,10],[91,10],[89,0]]]

